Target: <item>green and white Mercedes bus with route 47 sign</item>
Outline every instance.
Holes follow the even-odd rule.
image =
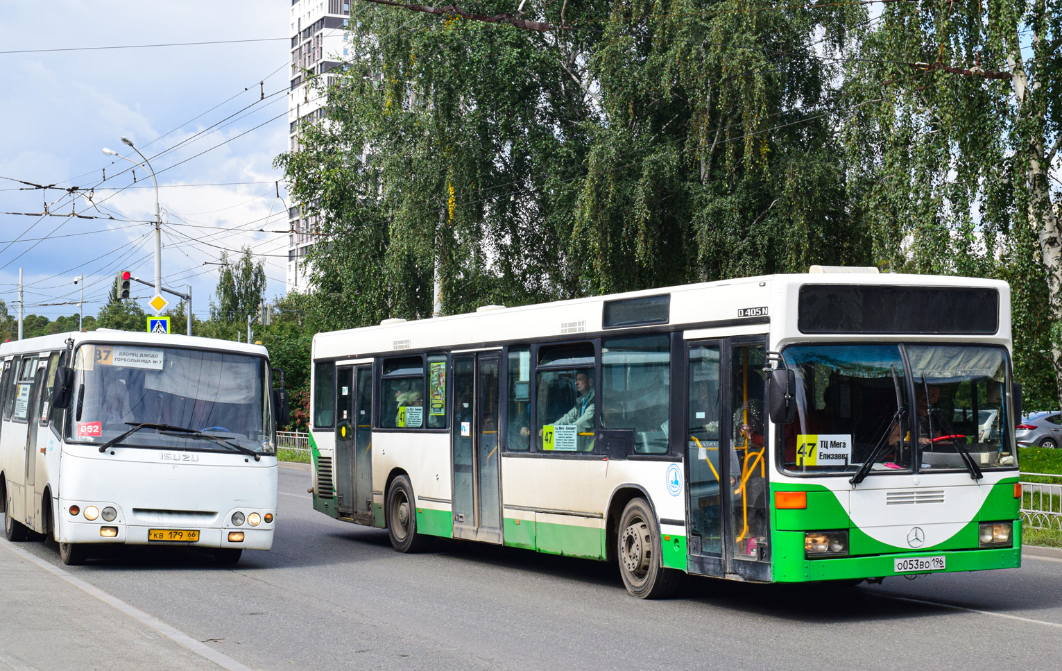
[[[1009,287],[858,270],[318,333],[313,506],[644,598],[1020,566]]]

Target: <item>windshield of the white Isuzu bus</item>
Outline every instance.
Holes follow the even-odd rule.
[[[102,444],[141,423],[202,431],[272,453],[266,360],[235,352],[125,344],[85,344],[74,355],[67,443]],[[230,452],[179,432],[144,428],[123,447]]]

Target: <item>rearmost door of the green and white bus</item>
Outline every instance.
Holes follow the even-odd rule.
[[[336,368],[336,496],[340,517],[374,523],[370,365]]]

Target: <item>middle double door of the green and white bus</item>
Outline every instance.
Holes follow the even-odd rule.
[[[501,543],[498,355],[453,357],[453,537]]]

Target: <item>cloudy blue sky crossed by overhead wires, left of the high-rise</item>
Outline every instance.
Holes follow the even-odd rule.
[[[288,228],[272,162],[288,143],[290,8],[289,0],[0,0],[0,52],[281,38],[0,53],[0,212],[40,212],[47,202],[52,212],[72,205],[115,218],[0,213],[0,299],[12,314],[20,266],[27,313],[52,319],[78,306],[40,304],[78,300],[73,279],[83,272],[85,314],[99,311],[119,271],[153,280],[153,226],[141,223],[154,219],[151,179],[137,169],[133,184],[132,164],[101,151],[136,158],[123,135],[158,173],[164,285],[191,283],[193,309],[205,316],[219,270],[209,262],[250,244],[266,261],[267,296],[284,293],[288,237],[256,230]],[[11,178],[96,190],[92,203],[72,203],[61,190],[21,191]],[[134,286],[134,295],[150,291]]]

